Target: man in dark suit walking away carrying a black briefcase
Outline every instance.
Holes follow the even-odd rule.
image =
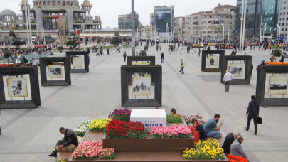
[[[255,95],[251,96],[251,101],[249,102],[249,106],[247,108],[246,117],[247,117],[247,127],[245,127],[245,130],[249,131],[250,122],[251,119],[253,118],[255,126],[254,134],[257,135],[257,117],[259,117],[259,103],[255,99]]]

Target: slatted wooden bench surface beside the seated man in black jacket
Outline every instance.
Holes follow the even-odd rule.
[[[82,142],[82,141],[102,141],[102,139],[105,139],[105,132],[87,131],[80,142]],[[68,159],[68,161],[72,160],[73,152],[74,151],[60,153],[60,155],[57,157],[57,161],[59,159]]]

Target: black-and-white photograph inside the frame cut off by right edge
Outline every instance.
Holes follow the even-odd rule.
[[[270,76],[269,77],[269,95],[287,95],[287,76]]]

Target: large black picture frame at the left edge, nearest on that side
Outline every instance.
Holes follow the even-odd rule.
[[[4,75],[29,75],[32,100],[7,101],[4,91]],[[28,109],[41,105],[38,68],[36,67],[11,67],[0,68],[0,109]]]

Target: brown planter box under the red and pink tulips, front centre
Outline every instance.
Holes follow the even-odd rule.
[[[194,139],[103,139],[104,148],[114,148],[116,152],[181,152],[194,147]]]

